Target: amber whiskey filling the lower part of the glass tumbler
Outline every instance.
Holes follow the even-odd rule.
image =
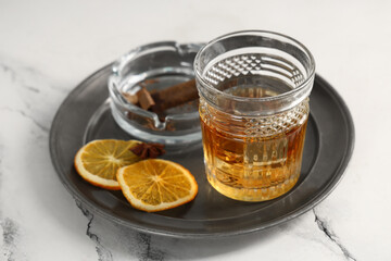
[[[276,95],[260,87],[237,96]],[[289,191],[301,171],[308,101],[267,117],[241,117],[200,100],[206,176],[220,194],[243,201],[264,201]]]

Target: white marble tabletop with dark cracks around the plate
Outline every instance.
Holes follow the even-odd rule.
[[[0,260],[391,260],[390,1],[0,1]],[[346,101],[356,144],[313,211],[219,240],[149,236],[87,210],[60,183],[48,136],[61,101],[133,47],[285,33]],[[390,60],[389,60],[390,59]]]

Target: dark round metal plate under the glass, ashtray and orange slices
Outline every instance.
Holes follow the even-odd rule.
[[[289,221],[319,203],[340,181],[351,158],[354,127],[337,91],[316,76],[311,94],[301,177],[295,187],[277,199],[250,203],[215,191],[204,174],[202,148],[165,156],[186,166],[199,184],[197,198],[185,206],[156,213],[133,209],[121,191],[86,183],[73,160],[89,140],[133,139],[114,122],[108,103],[111,65],[77,86],[60,107],[50,132],[53,165],[67,190],[84,206],[110,221],[137,231],[174,237],[200,238],[239,235]]]

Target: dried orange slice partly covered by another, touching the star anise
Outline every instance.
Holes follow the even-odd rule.
[[[119,190],[116,172],[140,160],[130,151],[137,140],[99,139],[85,145],[75,157],[75,167],[87,182],[98,187]]]

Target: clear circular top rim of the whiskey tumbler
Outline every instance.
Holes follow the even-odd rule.
[[[224,92],[217,88],[215,88],[214,86],[212,86],[210,83],[207,83],[204,79],[204,76],[202,75],[203,73],[203,69],[201,69],[200,65],[200,58],[203,54],[203,52],[206,51],[207,48],[210,48],[211,46],[213,46],[214,44],[222,41],[224,39],[227,38],[231,38],[231,37],[236,37],[236,36],[260,36],[260,37],[270,37],[270,38],[279,38],[281,40],[286,40],[289,41],[290,44],[293,44],[295,47],[302,49],[302,51],[307,55],[308,60],[310,60],[310,69],[308,69],[308,73],[306,78],[297,87],[292,88],[289,91],[285,91],[282,94],[276,95],[276,96],[270,96],[270,97],[240,97],[240,96],[235,96],[231,94],[227,94]],[[249,46],[250,47],[250,46]],[[255,47],[255,46],[254,46]],[[311,51],[303,45],[301,44],[299,40],[280,34],[280,33],[276,33],[276,32],[272,32],[272,30],[257,30],[257,29],[250,29],[250,30],[239,30],[239,32],[234,32],[234,33],[229,33],[229,34],[225,34],[223,36],[219,36],[213,40],[211,40],[210,42],[207,42],[206,45],[204,45],[199,52],[197,53],[195,58],[194,58],[194,74],[195,74],[195,78],[198,82],[200,82],[200,84],[202,85],[202,87],[215,92],[218,96],[225,97],[227,99],[230,100],[235,100],[235,101],[253,101],[253,102],[264,102],[264,101],[276,101],[276,100],[283,100],[288,97],[292,97],[298,92],[301,91],[305,91],[305,89],[307,89],[308,87],[312,87],[311,83],[314,80],[315,77],[315,59],[313,57],[313,54],[311,53]]]

